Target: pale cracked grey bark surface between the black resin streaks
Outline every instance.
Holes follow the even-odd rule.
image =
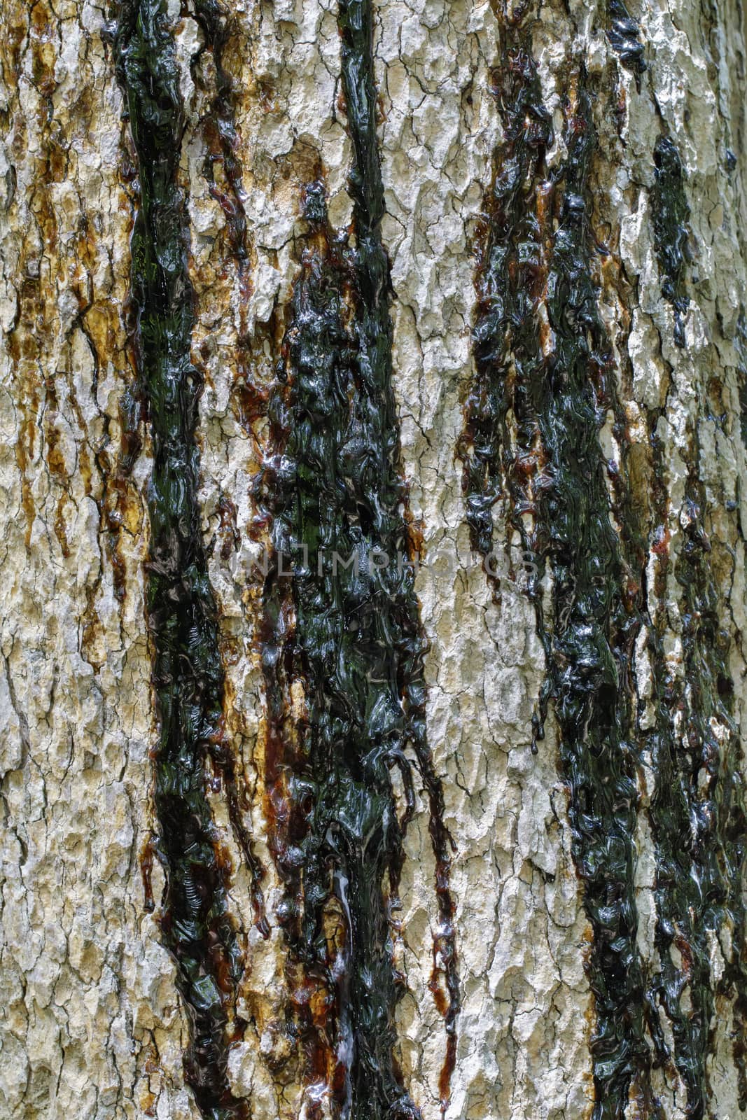
[[[217,534],[211,579],[221,610],[227,728],[252,795],[272,925],[267,942],[252,928],[249,875],[216,793],[248,961],[239,1009],[250,1026],[232,1049],[230,1072],[236,1095],[251,1098],[254,1120],[270,1120],[298,1114],[299,1090],[280,1061],[288,992],[272,917],[278,884],[265,846],[260,582],[252,569],[258,547],[248,534],[251,479],[267,428],[241,420],[237,338],[249,333],[252,375],[268,385],[276,319],[298,267],[300,187],[320,162],[332,223],[344,226],[351,153],[337,104],[335,6],[237,0],[225,65],[235,83],[252,254],[251,292],[242,293],[224,212],[205,177],[215,74],[209,55],[197,57],[202,32],[188,8],[169,4],[189,119],[181,175],[197,295],[193,349],[207,377],[199,432],[204,529],[206,540]],[[181,1070],[186,1019],[157,913],[144,908],[139,866],[151,827],[155,741],[142,569],[147,441],[131,476],[116,470],[120,398],[132,379],[123,323],[132,144],[101,8],[88,0],[4,0],[2,10],[0,1111],[9,1120],[198,1120]],[[635,485],[645,493],[651,469],[646,410],[661,407],[666,528],[676,556],[688,431],[697,426],[744,739],[747,464],[739,386],[747,355],[737,337],[747,301],[744,15],[736,0],[712,11],[693,0],[663,0],[632,15],[648,62],[641,92],[605,36],[601,3],[543,6],[534,53],[558,125],[569,65],[583,62],[608,91],[594,105],[600,137],[594,224],[611,251],[599,272],[600,308],[639,447]],[[511,582],[498,608],[484,573],[470,566],[455,460],[473,370],[473,243],[501,140],[489,92],[501,22],[487,0],[377,6],[383,233],[395,292],[403,469],[428,558],[418,594],[430,640],[429,736],[458,844],[452,887],[463,1009],[448,1120],[558,1120],[591,1109],[590,927],[570,855],[552,721],[540,753],[530,749],[544,673],[534,614]],[[684,348],[673,343],[653,242],[653,151],[664,128],[688,172],[693,262]],[[731,168],[727,149],[736,155]],[[551,162],[562,156],[558,144]],[[215,176],[221,188],[220,162]],[[713,417],[713,394],[723,421]],[[603,437],[606,454],[619,455],[611,430]],[[220,548],[222,495],[236,506],[235,549]],[[653,553],[651,564],[653,588]],[[680,596],[670,576],[664,597],[675,675],[682,672]],[[643,653],[636,672],[645,721]],[[645,806],[655,775],[641,781]],[[653,961],[654,861],[645,812],[638,820],[638,946],[642,959]],[[396,946],[409,989],[398,1011],[401,1065],[423,1117],[436,1120],[445,1037],[428,988],[436,902],[423,804],[407,851]],[[157,902],[161,885],[156,862]],[[715,976],[722,954],[715,939]],[[736,1120],[732,1008],[723,1000],[717,1011],[709,1114]],[[654,1089],[666,1120],[685,1116],[673,1066],[655,1071]],[[629,1120],[641,1114],[632,1101]]]

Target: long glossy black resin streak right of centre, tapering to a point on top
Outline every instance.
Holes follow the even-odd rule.
[[[568,162],[547,287],[554,337],[544,382],[527,386],[520,414],[538,423],[548,454],[535,514],[538,550],[550,563],[554,585],[548,669],[561,769],[570,788],[573,857],[594,930],[588,967],[597,1014],[594,1116],[611,1120],[624,1114],[632,1086],[647,1095],[650,1060],[636,953],[636,756],[629,738],[629,674],[641,617],[638,588],[609,521],[598,441],[605,419],[598,390],[611,380],[614,358],[590,271],[588,175],[595,137],[582,82],[575,100],[567,115]]]

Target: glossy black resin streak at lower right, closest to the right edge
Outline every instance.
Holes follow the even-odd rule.
[[[661,448],[654,450],[661,457]],[[728,670],[729,634],[720,619],[723,599],[711,564],[706,533],[706,495],[698,479],[700,449],[693,439],[692,466],[680,516],[682,539],[674,561],[681,588],[683,674],[666,670],[662,636],[666,612],[651,643],[656,724],[652,764],[656,791],[650,815],[656,849],[656,946],[661,968],[652,981],[672,1025],[671,1057],[685,1085],[687,1114],[701,1120],[711,1099],[708,1057],[716,997],[735,1007],[735,1064],[740,1107],[747,1107],[743,878],[747,819],[740,747],[734,724],[734,684]],[[654,549],[664,558],[663,595],[670,567],[667,541]],[[711,976],[713,937],[730,928],[731,952],[720,982]],[[725,949],[721,939],[721,948]],[[660,1040],[663,1049],[663,1040]]]

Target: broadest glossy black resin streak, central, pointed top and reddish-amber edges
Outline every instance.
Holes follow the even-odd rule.
[[[323,205],[308,188],[307,215]],[[286,887],[280,917],[300,965],[295,1030],[309,1103],[320,1109],[328,1093],[337,1116],[404,1117],[415,1110],[392,1061],[383,883],[389,875],[395,896],[402,833],[390,768],[408,766],[402,685],[421,641],[409,626],[408,580],[391,586],[390,573],[370,570],[374,547],[405,549],[402,495],[382,424],[391,417],[347,321],[353,271],[328,241],[321,222],[293,287],[271,401],[277,454],[261,483],[277,557],[262,643],[268,816]],[[292,578],[278,575],[291,564]]]

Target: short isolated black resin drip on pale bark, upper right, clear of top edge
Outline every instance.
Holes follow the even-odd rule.
[[[674,342],[684,346],[684,321],[690,300],[684,288],[685,250],[690,207],[684,193],[684,168],[669,137],[654,148],[655,180],[651,204],[654,245],[662,274],[662,295],[674,309]]]

